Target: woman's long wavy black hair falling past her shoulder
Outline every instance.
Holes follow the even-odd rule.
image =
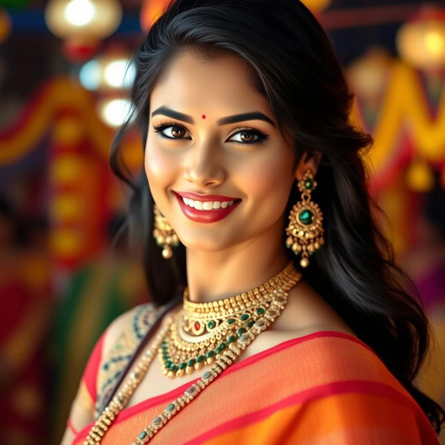
[[[185,248],[175,248],[172,259],[161,256],[152,236],[153,198],[145,172],[129,175],[120,142],[135,118],[145,147],[149,97],[168,62],[184,49],[207,58],[230,51],[245,60],[280,131],[296,141],[296,161],[304,152],[321,152],[313,199],[323,211],[325,245],[302,273],[380,356],[439,432],[444,410],[414,386],[428,350],[428,319],[412,280],[394,262],[376,219],[382,211],[366,185],[363,158],[373,138],[350,122],[353,93],[329,38],[298,0],[172,1],[134,54],[135,115],[115,136],[111,168],[131,187],[124,229],[131,245],[140,248],[152,299],[161,305],[186,286]],[[294,184],[286,214],[299,199]]]

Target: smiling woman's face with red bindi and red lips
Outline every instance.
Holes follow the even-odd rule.
[[[150,97],[145,172],[187,248],[281,239],[294,160],[241,58],[183,52],[170,62]]]

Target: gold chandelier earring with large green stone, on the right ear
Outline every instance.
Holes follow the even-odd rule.
[[[301,201],[291,209],[289,225],[286,227],[286,247],[296,255],[301,254],[300,266],[309,266],[309,255],[320,249],[325,243],[323,238],[323,213],[318,204],[311,201],[311,193],[317,183],[311,170],[298,181]]]

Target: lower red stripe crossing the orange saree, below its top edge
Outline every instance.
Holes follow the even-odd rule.
[[[292,396],[286,397],[277,403],[273,403],[273,405],[269,405],[261,410],[250,412],[244,416],[232,419],[231,421],[218,425],[216,428],[212,428],[211,430],[204,432],[202,435],[199,435],[188,442],[184,442],[183,445],[203,444],[204,442],[207,442],[214,437],[218,437],[219,435],[224,435],[232,430],[250,426],[252,423],[257,423],[258,421],[264,420],[274,412],[292,405],[316,401],[321,397],[335,396],[337,394],[353,393],[358,391],[360,394],[370,394],[372,396],[389,396],[390,398],[393,398],[397,402],[402,403],[409,408],[415,407],[417,415],[421,414],[421,416],[425,416],[419,406],[416,405],[416,403],[413,403],[410,398],[405,397],[399,391],[385,383],[370,382],[369,380],[332,382],[306,389],[304,391],[299,391],[298,393],[292,394]]]

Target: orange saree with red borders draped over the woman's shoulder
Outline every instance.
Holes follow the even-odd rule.
[[[102,444],[134,442],[196,380],[120,412]],[[88,430],[77,432],[73,445],[83,444]],[[284,341],[233,364],[149,443],[439,444],[419,405],[375,353],[334,331]]]

